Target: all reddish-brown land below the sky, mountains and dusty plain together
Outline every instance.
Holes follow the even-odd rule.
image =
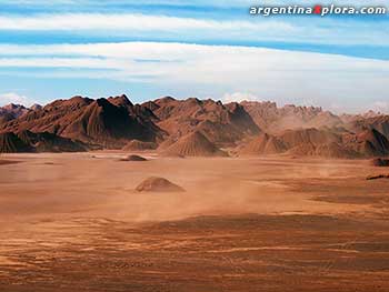
[[[0,291],[389,291],[389,115],[0,108]]]

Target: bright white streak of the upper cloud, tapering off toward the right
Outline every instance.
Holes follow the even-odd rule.
[[[248,18],[249,20],[250,18]],[[248,20],[211,20],[167,16],[133,13],[63,13],[38,16],[0,16],[2,30],[56,30],[56,31],[188,31],[188,30],[229,30],[267,31],[269,29],[293,30],[283,21],[253,23]],[[97,31],[97,32],[98,32]]]

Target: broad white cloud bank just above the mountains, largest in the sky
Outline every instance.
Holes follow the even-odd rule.
[[[9,75],[142,81],[169,94],[196,92],[218,98],[232,92],[223,99],[258,95],[279,104],[306,101],[327,109],[339,104],[339,111],[357,111],[375,100],[386,100],[389,82],[389,61],[249,47],[0,44],[0,69]],[[10,67],[16,70],[8,70]],[[23,70],[34,67],[41,69]]]

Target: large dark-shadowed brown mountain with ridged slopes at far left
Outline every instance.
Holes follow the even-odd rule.
[[[42,109],[2,122],[0,132],[50,132],[107,148],[121,148],[132,139],[156,141],[161,138],[162,131],[146,118],[148,111],[136,109],[129,101],[124,103],[126,100],[124,95],[56,100]]]

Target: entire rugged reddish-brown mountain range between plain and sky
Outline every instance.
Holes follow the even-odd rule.
[[[150,150],[177,155],[389,155],[389,115],[321,108],[164,97],[73,97],[44,107],[0,108],[0,152]]]

